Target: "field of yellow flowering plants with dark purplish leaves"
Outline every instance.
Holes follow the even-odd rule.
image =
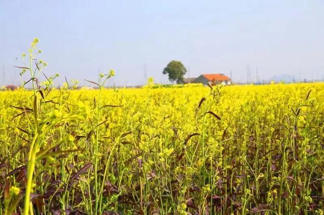
[[[0,92],[1,214],[323,214],[323,83],[72,85]]]

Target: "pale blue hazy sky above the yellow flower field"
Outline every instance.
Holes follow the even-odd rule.
[[[110,69],[108,85],[170,83],[162,72],[172,60],[185,77],[324,79],[323,26],[323,0],[0,0],[0,85],[20,83],[13,65],[35,37],[56,84],[88,85]]]

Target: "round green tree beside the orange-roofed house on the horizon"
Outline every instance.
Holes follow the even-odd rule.
[[[187,70],[180,61],[171,61],[166,68],[163,70],[163,74],[169,75],[169,80],[173,83],[177,81],[180,83],[183,81],[183,76]]]

